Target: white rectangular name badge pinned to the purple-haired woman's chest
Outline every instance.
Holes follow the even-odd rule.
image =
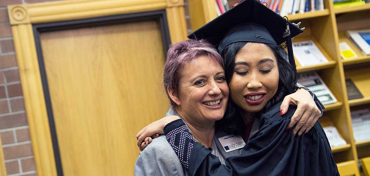
[[[225,152],[231,152],[236,149],[241,149],[245,146],[245,142],[239,135],[228,135],[218,138]]]

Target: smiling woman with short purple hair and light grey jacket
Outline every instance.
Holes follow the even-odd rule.
[[[242,137],[234,137],[239,140],[241,147],[227,152],[219,141],[220,137],[233,135],[215,123],[224,117],[229,87],[225,80],[222,57],[212,44],[205,40],[186,40],[172,44],[167,53],[163,83],[171,102],[171,108],[166,114],[168,117],[163,119],[166,123],[181,117],[186,124],[185,128],[191,131],[195,140],[212,148],[211,153],[223,164],[227,157],[241,154],[240,148],[245,145]],[[307,112],[312,109],[320,112],[312,95],[306,90],[298,90],[292,97],[310,99],[312,103],[304,109]],[[292,120],[292,123],[295,121]],[[178,159],[176,155],[181,149],[173,150],[163,135],[153,138],[145,139],[141,146],[146,148],[136,161],[135,175],[188,175],[183,166],[186,161]]]

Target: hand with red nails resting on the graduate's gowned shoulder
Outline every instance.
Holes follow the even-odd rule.
[[[305,131],[307,133],[319,119],[320,109],[316,106],[311,94],[305,89],[298,89],[295,93],[287,95],[280,106],[280,114],[285,114],[290,104],[296,105],[297,110],[286,130],[289,130],[298,122],[293,129],[293,134],[298,133],[298,136],[300,136]]]

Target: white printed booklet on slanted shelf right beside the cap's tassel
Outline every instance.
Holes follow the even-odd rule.
[[[312,40],[292,43],[293,53],[301,66],[310,66],[329,61]]]

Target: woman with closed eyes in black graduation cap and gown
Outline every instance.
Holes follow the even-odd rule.
[[[242,155],[221,165],[210,149],[195,142],[182,120],[167,124],[166,139],[189,175],[339,175],[320,123],[297,137],[287,129],[296,108],[280,114],[283,98],[298,89],[291,37],[299,33],[258,1],[245,0],[191,34],[218,45],[231,97],[221,124],[248,142]],[[289,62],[280,53],[281,43]],[[256,121],[259,130],[250,135]]]

